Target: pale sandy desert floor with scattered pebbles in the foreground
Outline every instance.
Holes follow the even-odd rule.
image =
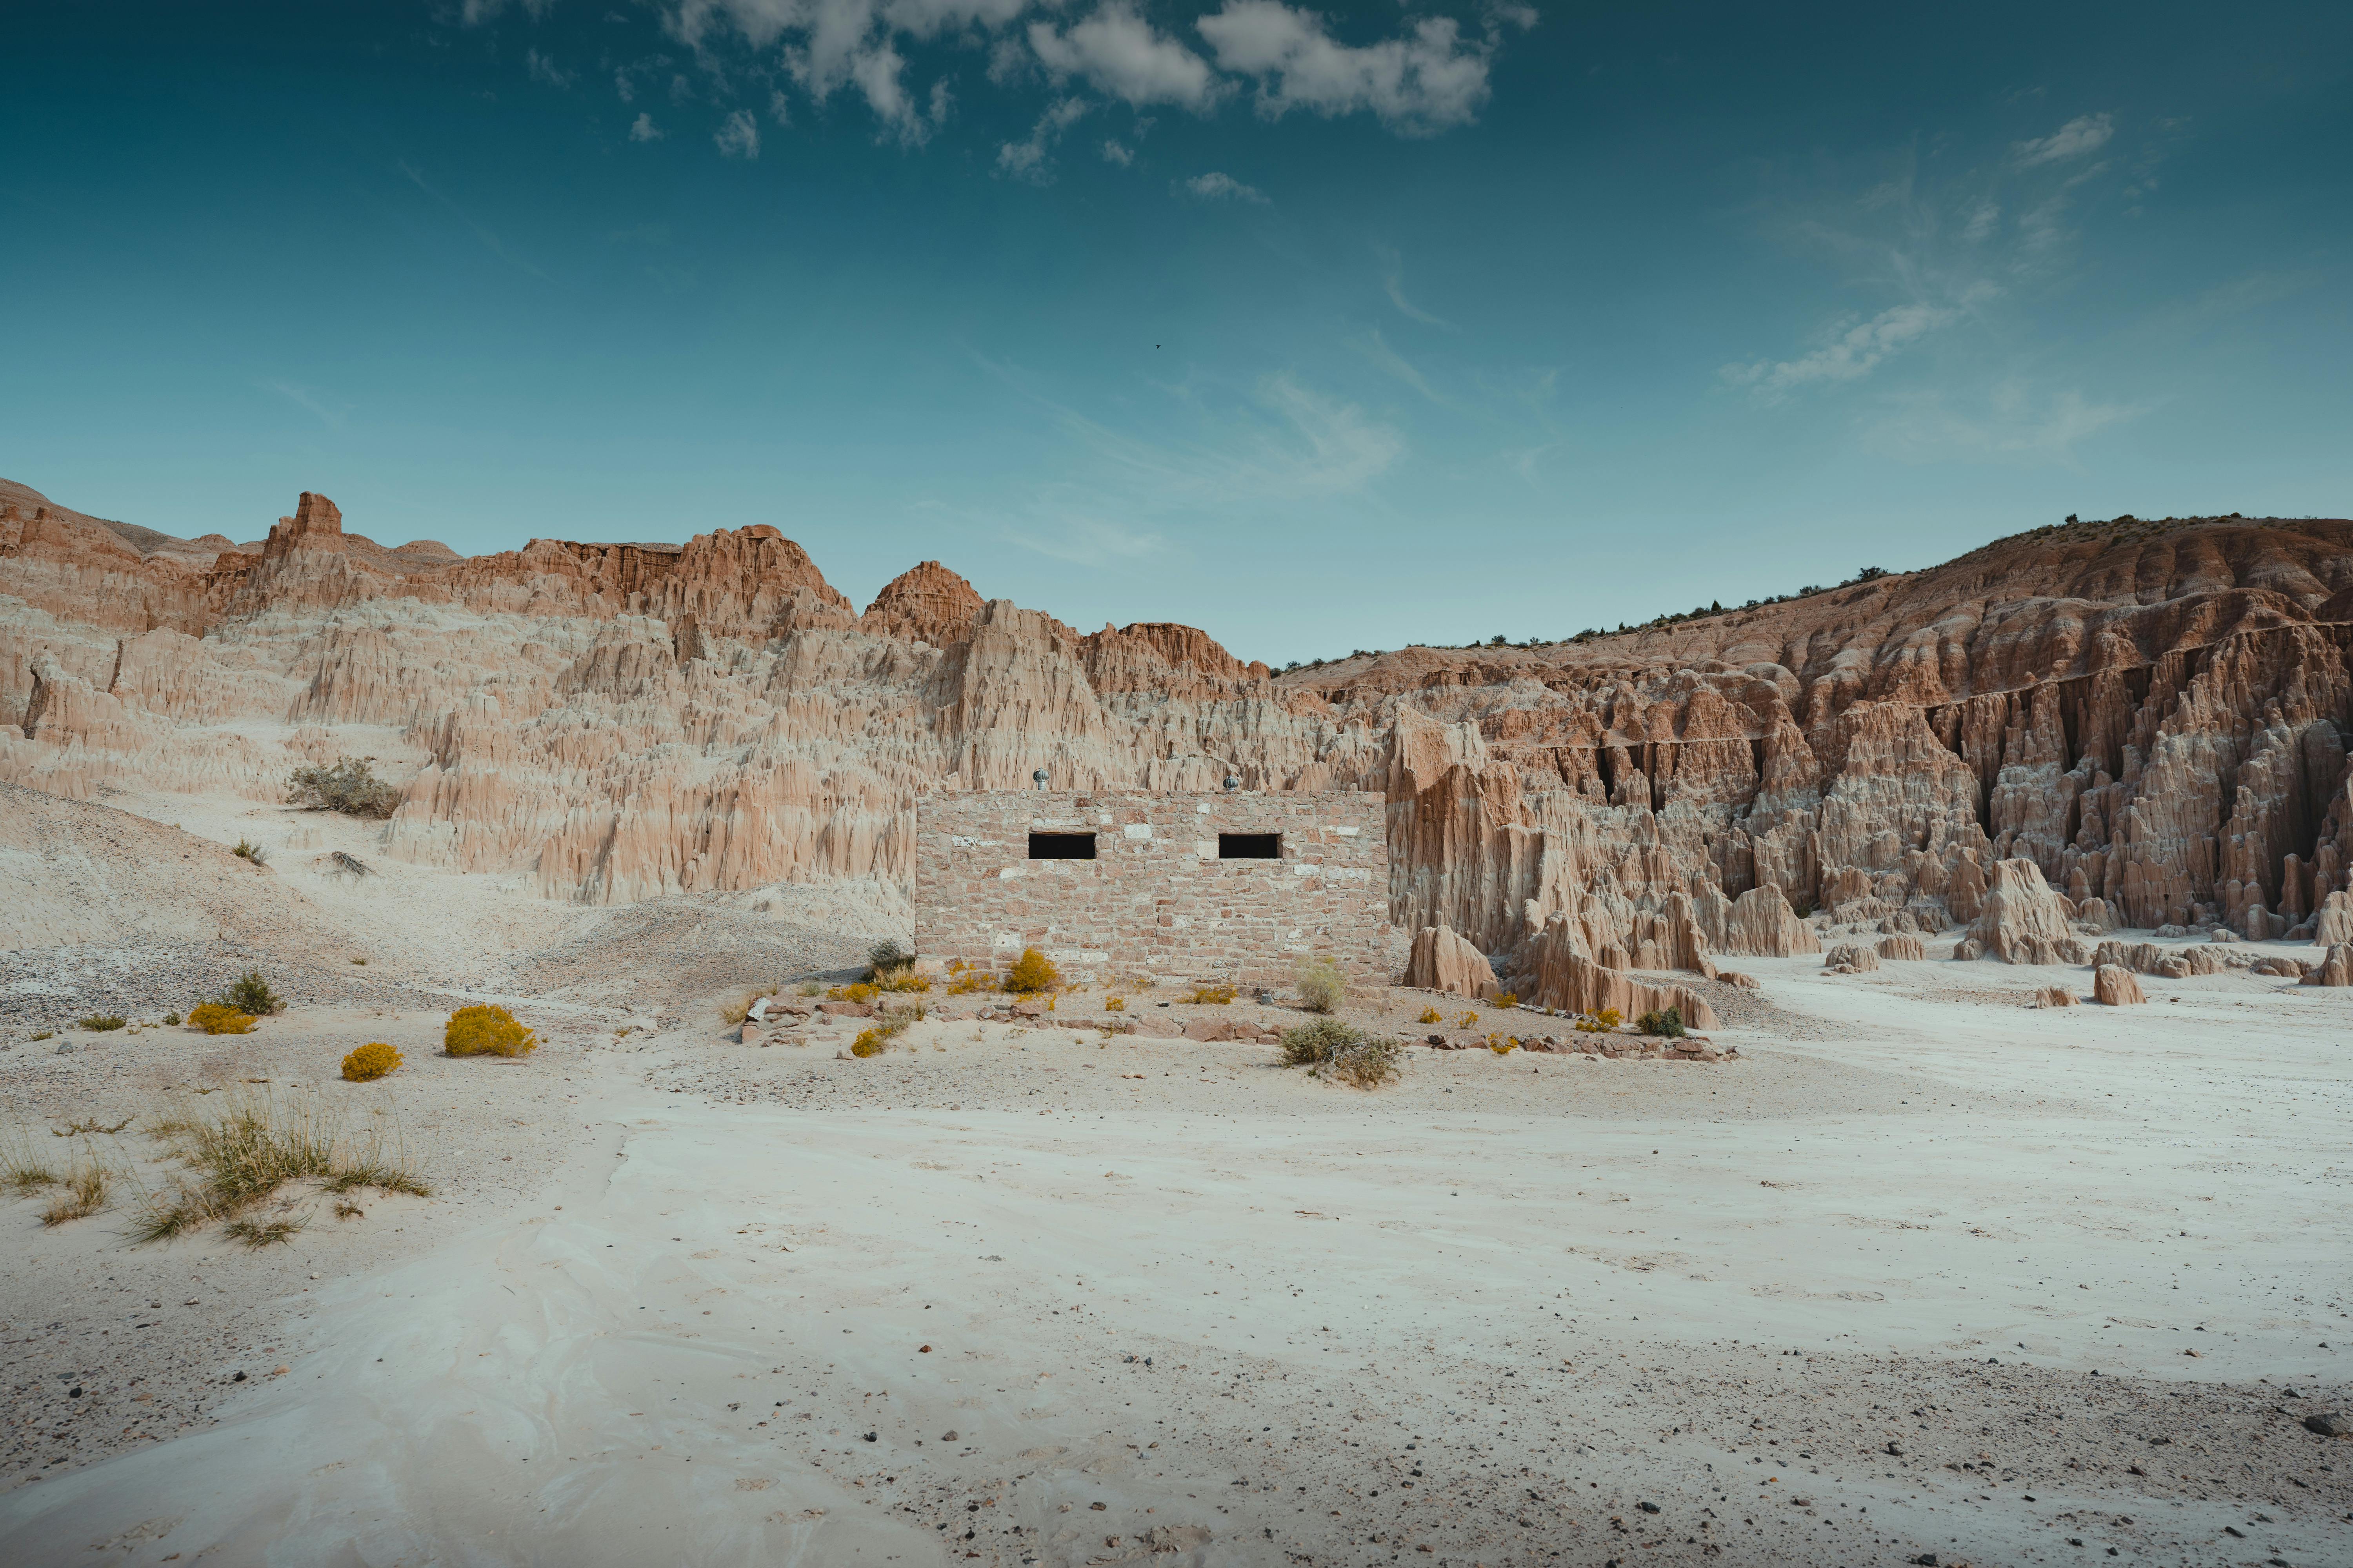
[[[160,1150],[61,1140],[125,1175],[0,1201],[0,1561],[2353,1561],[2353,1443],[2301,1425],[2353,1410],[2353,994],[1744,959],[1737,1060],[1362,1093],[972,1020],[744,1046],[739,980],[859,943],[560,924],[513,990],[14,1030],[24,1138],[273,1095],[433,1197],[134,1246]],[[473,994],[548,1044],[440,1056]],[[336,1081],[365,1039],[407,1065]]]

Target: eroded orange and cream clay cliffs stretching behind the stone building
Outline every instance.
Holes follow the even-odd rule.
[[[904,898],[918,792],[1040,766],[1384,792],[1398,926],[1522,973],[1706,971],[2005,896],[2049,940],[2261,938],[2353,858],[2344,520],[2071,524],[1624,635],[1285,675],[1184,625],[1080,635],[939,562],[861,614],[769,527],[456,557],[304,494],[233,545],[7,484],[0,557],[0,778],[275,802],[299,762],[374,757],[402,792],[384,853],[567,900]]]

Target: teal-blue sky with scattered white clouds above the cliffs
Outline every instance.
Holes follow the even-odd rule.
[[[5,7],[0,475],[1271,663],[2353,510],[2353,7]]]

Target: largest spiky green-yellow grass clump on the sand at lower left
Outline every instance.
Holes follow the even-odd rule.
[[[169,1241],[212,1220],[249,1220],[252,1211],[296,1180],[315,1180],[325,1192],[409,1192],[428,1197],[431,1187],[409,1171],[398,1133],[386,1138],[381,1124],[348,1133],[332,1107],[318,1100],[275,1100],[240,1095],[226,1105],[179,1107],[148,1126],[188,1166],[191,1178],[146,1194],[134,1237]],[[299,1220],[247,1222],[231,1232],[247,1246],[268,1246],[294,1234]]]

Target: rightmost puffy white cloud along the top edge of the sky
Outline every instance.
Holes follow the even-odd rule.
[[[1424,16],[1402,38],[1344,45],[1315,12],[1280,0],[1226,0],[1226,9],[1193,26],[1217,52],[1217,63],[1259,80],[1259,113],[1292,108],[1318,115],[1369,110],[1391,129],[1428,134],[1466,125],[1487,101],[1487,61],[1501,21],[1527,26],[1532,12],[1499,14],[1480,40],[1464,40],[1452,16]]]

